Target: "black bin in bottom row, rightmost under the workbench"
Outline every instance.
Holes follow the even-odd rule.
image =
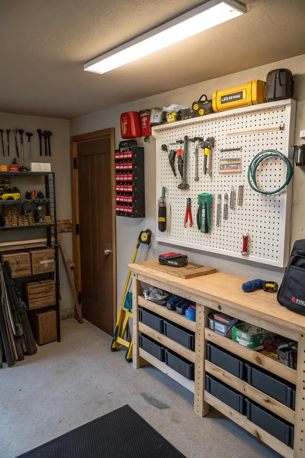
[[[247,419],[255,425],[267,431],[279,441],[293,448],[294,427],[287,421],[284,421],[277,415],[272,414],[269,410],[246,399]]]

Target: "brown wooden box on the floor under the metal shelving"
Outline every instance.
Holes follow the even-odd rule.
[[[32,311],[30,322],[37,344],[47,344],[57,339],[55,310]]]

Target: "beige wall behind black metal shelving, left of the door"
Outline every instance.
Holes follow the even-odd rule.
[[[23,129],[23,142],[25,152],[25,165],[30,168],[30,161],[27,159],[27,136],[25,132],[32,132],[31,138],[31,161],[32,162],[50,162],[51,170],[55,172],[55,188],[56,188],[56,212],[58,219],[71,218],[71,190],[70,190],[70,131],[69,121],[52,118],[40,118],[37,116],[25,116],[19,114],[0,113],[0,128],[4,130],[5,158],[3,158],[2,147],[0,146],[0,164],[9,164],[16,157],[15,139],[13,129]],[[11,129],[10,132],[10,158],[7,157],[6,148],[6,129]],[[43,156],[39,155],[39,139],[37,129],[42,131],[48,130],[52,132],[51,142],[51,157],[44,156],[44,140],[43,140]],[[17,134],[18,145],[20,150],[20,136]],[[20,159],[17,160],[21,164]],[[41,177],[28,177],[22,180],[17,180],[14,177],[14,185],[17,185],[22,192],[30,189],[44,190],[44,182]],[[67,248],[68,256],[72,259],[72,235],[63,234]],[[45,231],[40,229],[0,232],[0,241],[5,240],[24,240],[34,239],[45,236]],[[74,305],[70,293],[68,278],[64,271],[64,265],[59,255],[59,273],[60,273],[60,292],[62,300],[60,301],[60,315],[62,318],[74,316]]]

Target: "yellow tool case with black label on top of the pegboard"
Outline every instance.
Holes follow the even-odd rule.
[[[266,83],[261,80],[250,81],[241,86],[214,91],[212,97],[214,111],[248,107],[265,102]]]

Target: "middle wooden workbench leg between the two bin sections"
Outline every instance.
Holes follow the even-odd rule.
[[[196,304],[194,411],[200,417],[204,417],[209,413],[209,404],[204,401],[204,363],[207,354],[207,342],[204,338],[204,328],[208,326],[209,310],[209,307]]]

